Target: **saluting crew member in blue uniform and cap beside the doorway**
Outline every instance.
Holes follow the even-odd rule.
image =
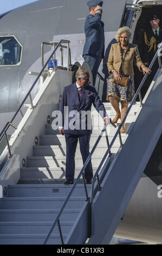
[[[88,1],[89,15],[85,21],[86,42],[83,48],[83,58],[89,63],[93,74],[93,86],[95,86],[96,75],[104,57],[105,36],[104,23],[101,21],[103,1]]]

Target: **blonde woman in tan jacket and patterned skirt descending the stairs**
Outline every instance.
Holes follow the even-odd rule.
[[[135,62],[138,69],[144,74],[145,72],[148,74],[151,72],[142,63],[137,45],[129,43],[130,38],[131,31],[128,27],[119,28],[115,36],[117,43],[112,44],[107,62],[107,68],[110,74],[107,79],[107,100],[111,102],[116,112],[115,118],[112,121],[114,124],[117,123],[119,118],[122,122],[128,109],[128,103],[134,97],[133,62]],[[127,87],[120,85],[122,77],[129,77]],[[119,102],[121,102],[121,112]],[[120,132],[126,133],[125,124],[122,125]]]

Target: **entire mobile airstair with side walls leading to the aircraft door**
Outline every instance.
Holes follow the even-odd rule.
[[[126,135],[120,135],[120,123],[102,127],[92,108],[92,185],[82,175],[88,159],[83,166],[79,145],[74,185],[63,184],[66,143],[53,121],[73,72],[57,68],[47,73],[42,69],[42,87],[34,100],[29,92],[28,110],[1,155],[0,244],[108,244],[161,135],[161,70],[142,106],[134,102],[129,107]],[[104,105],[113,119],[110,103]],[[9,125],[14,127],[12,121],[7,124],[4,136]]]

